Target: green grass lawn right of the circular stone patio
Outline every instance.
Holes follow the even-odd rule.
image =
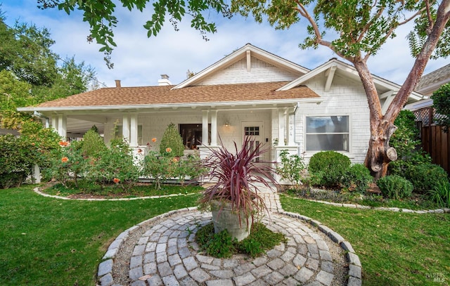
[[[363,285],[449,285],[449,214],[333,207],[285,195],[281,204],[348,240],[361,259]]]

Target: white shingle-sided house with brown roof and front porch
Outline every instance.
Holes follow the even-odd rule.
[[[374,77],[383,109],[400,86]],[[171,122],[179,127],[187,152],[203,145],[238,145],[245,136],[308,160],[320,150],[337,150],[364,162],[369,111],[364,88],[352,67],[332,59],[314,70],[246,44],[193,77],[171,85],[122,87],[80,93],[38,106],[19,108],[48,120],[63,137],[79,137],[92,125],[105,141],[117,132],[132,148],[148,150]],[[413,102],[422,96],[413,93]],[[117,128],[115,128],[117,126]],[[118,131],[117,131],[118,130]],[[157,142],[158,143],[158,142]],[[157,146],[150,146],[155,148]]]

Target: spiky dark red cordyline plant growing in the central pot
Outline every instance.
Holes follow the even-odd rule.
[[[220,143],[223,145],[221,140]],[[234,143],[234,154],[223,146],[207,148],[210,155],[203,160],[203,167],[207,168],[206,176],[213,185],[205,189],[200,204],[219,202],[221,211],[223,204],[229,202],[232,209],[238,212],[239,219],[242,212],[247,221],[250,217],[254,219],[257,212],[267,210],[264,198],[259,195],[259,187],[273,188],[278,183],[272,177],[274,168],[270,164],[257,162],[257,159],[269,149],[262,148],[262,143],[256,143],[254,138],[248,136],[240,150]]]

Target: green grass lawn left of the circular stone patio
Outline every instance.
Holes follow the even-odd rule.
[[[95,285],[101,257],[117,235],[198,200],[56,200],[34,187],[0,190],[0,285]]]

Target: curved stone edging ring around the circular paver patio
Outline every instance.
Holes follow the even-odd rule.
[[[136,226],[131,226],[131,228],[128,228],[127,230],[124,230],[123,233],[121,233],[117,238],[110,244],[108,247],[108,250],[106,251],[105,255],[102,258],[101,264],[98,265],[98,273],[97,278],[100,282],[100,285],[106,286],[106,285],[113,285],[113,265],[114,265],[114,259],[117,255],[117,252],[119,251],[120,247],[124,243],[124,241],[128,238],[128,236],[133,233],[134,231],[138,230],[142,226],[151,223],[152,221],[158,221],[159,219],[163,219],[167,216],[171,216],[172,214],[177,214],[181,212],[191,212],[197,210],[197,207],[188,207],[184,209],[176,209],[170,212],[166,212],[165,214],[160,214],[159,216],[155,216],[151,219],[148,219],[146,221],[142,221],[141,223],[138,223]],[[302,221],[305,221],[311,226],[316,226],[322,233],[328,236],[333,242],[340,245],[342,249],[345,251],[345,257],[347,261],[349,262],[349,280],[347,282],[347,286],[361,286],[362,285],[362,266],[361,261],[359,261],[359,256],[355,253],[352,245],[350,242],[342,238],[341,235],[336,233],[335,231],[331,230],[327,226],[324,226],[319,221],[316,221],[314,219],[309,218],[308,216],[303,216],[301,214],[295,214],[293,212],[285,212],[281,211],[278,212],[278,214],[284,214],[285,216],[290,216],[294,219],[300,219]],[[106,259],[106,260],[105,260]]]

